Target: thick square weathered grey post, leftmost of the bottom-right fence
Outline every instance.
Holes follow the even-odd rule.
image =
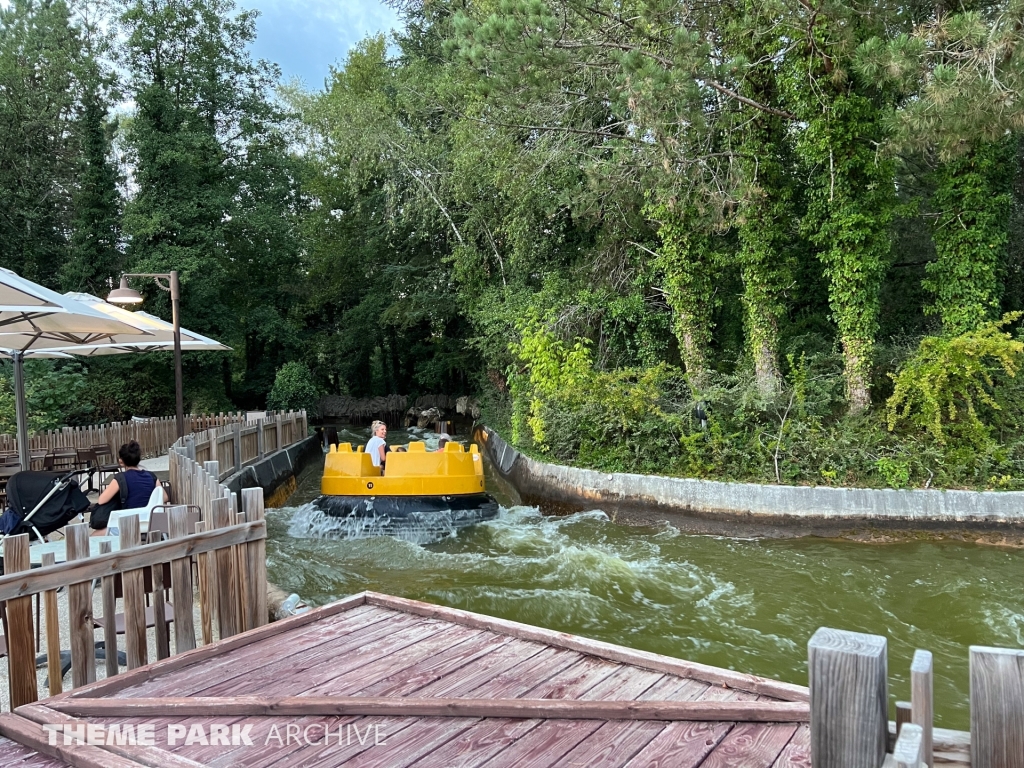
[[[879,768],[889,737],[887,641],[820,628],[807,644],[814,768]]]

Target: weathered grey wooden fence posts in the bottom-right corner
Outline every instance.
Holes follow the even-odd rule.
[[[896,703],[897,737],[890,753],[887,646],[879,635],[827,628],[808,643],[814,768],[967,765],[967,749],[972,768],[1024,768],[1024,650],[971,646],[969,748],[963,740],[939,743],[932,654],[918,650],[910,665],[910,700]]]

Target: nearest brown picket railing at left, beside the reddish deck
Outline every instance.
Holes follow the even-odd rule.
[[[151,535],[140,543],[137,516],[120,521],[120,550],[111,552],[111,542],[100,545],[98,556],[89,556],[89,528],[85,523],[69,525],[68,562],[54,564],[53,554],[43,555],[43,565],[30,570],[29,538],[10,537],[3,542],[5,575],[0,577],[0,601],[6,601],[7,668],[11,709],[39,698],[36,673],[36,632],[45,635],[46,665],[50,695],[62,689],[60,627],[57,590],[68,588],[71,636],[72,687],[96,679],[96,624],[102,624],[106,676],[119,672],[116,623],[116,581],[123,585],[123,647],[129,670],[148,663],[146,593],[157,616],[155,635],[157,658],[171,654],[169,627],[161,621],[165,612],[165,589],[173,605],[174,653],[197,645],[194,602],[199,601],[200,639],[213,642],[213,618],[218,636],[229,637],[266,624],[266,522],[261,488],[228,498],[202,488],[193,488],[206,500],[203,522],[187,529],[187,508],[168,510],[170,536]],[[195,493],[194,493],[195,496]],[[198,580],[194,581],[194,561]],[[165,584],[165,572],[170,584]],[[102,610],[93,615],[93,590],[98,581]],[[198,582],[198,584],[197,584]],[[33,598],[45,604],[45,632],[33,622]]]

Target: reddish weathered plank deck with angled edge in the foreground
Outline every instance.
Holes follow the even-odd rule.
[[[807,698],[801,686],[364,593],[2,715],[0,733],[25,746],[0,741],[0,764],[810,766]],[[156,743],[51,746],[42,723],[153,724]],[[169,743],[169,726],[196,725],[203,738]],[[211,725],[252,744],[203,743]]]

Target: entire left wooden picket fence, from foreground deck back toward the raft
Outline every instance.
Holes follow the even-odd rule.
[[[117,593],[122,593],[123,647],[128,669],[148,663],[146,596],[157,618],[153,629],[157,658],[171,654],[169,625],[159,621],[165,605],[173,606],[173,652],[181,653],[214,639],[226,638],[265,624],[268,620],[266,584],[266,522],[263,490],[247,488],[239,496],[220,480],[274,451],[302,440],[308,431],[304,411],[278,414],[245,423],[245,414],[204,417],[212,425],[169,444],[173,504],[168,511],[170,536],[148,537],[140,543],[137,516],[120,521],[120,550],[111,542],[100,544],[100,554],[90,557],[89,529],[85,523],[69,525],[68,562],[54,564],[43,555],[43,565],[30,570],[27,536],[3,542],[6,574],[0,577],[0,601],[6,601],[6,642],[10,706],[16,708],[39,698],[36,674],[36,633],[45,636],[49,694],[61,692],[60,628],[57,590],[68,587],[71,623],[72,687],[96,679],[98,643],[96,627],[102,626],[103,660],[108,676],[117,675],[118,653],[115,615]],[[165,423],[166,420],[158,420]],[[193,425],[203,424],[201,421]],[[209,424],[210,422],[205,422]],[[170,429],[174,421],[170,420]],[[163,428],[163,427],[161,427]],[[113,439],[123,439],[108,432]],[[157,435],[157,430],[146,433]],[[131,435],[138,439],[137,435]],[[84,438],[84,439],[91,439]],[[157,442],[151,444],[159,444]],[[222,457],[225,469],[216,459]],[[202,460],[199,461],[197,457]],[[189,528],[189,512],[200,521]],[[194,575],[195,573],[195,575]],[[165,575],[170,575],[170,584]],[[102,610],[93,615],[93,590],[99,580]],[[120,583],[120,585],[119,585]],[[170,596],[168,603],[165,591]],[[45,627],[33,622],[33,599],[45,606]],[[194,615],[198,600],[199,626]],[[98,620],[98,621],[97,621]],[[216,636],[214,630],[216,629]]]

